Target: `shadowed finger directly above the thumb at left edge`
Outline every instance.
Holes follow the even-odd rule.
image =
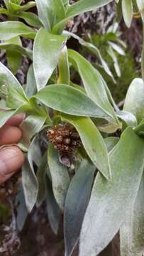
[[[21,137],[21,129],[4,125],[4,127],[0,129],[0,146],[4,144],[17,144],[21,140]]]

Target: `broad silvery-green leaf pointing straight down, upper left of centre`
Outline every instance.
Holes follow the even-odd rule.
[[[65,43],[65,36],[52,35],[40,28],[33,46],[33,67],[38,90],[45,87],[52,72],[57,68],[58,59]]]

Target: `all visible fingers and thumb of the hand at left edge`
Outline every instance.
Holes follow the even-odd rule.
[[[0,146],[17,144],[22,137],[19,125],[23,121],[23,114],[16,114],[0,129]],[[0,184],[7,181],[16,171],[21,169],[24,156],[18,146],[6,146],[0,150]]]

